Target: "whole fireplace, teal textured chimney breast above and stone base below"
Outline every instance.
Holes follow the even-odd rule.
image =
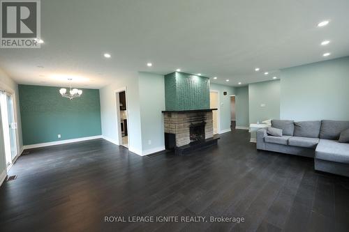
[[[165,148],[186,155],[217,144],[209,109],[209,78],[184,72],[165,75]]]

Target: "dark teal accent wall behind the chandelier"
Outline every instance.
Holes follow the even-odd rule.
[[[80,98],[68,100],[61,97],[59,87],[18,88],[24,145],[101,135],[98,89],[84,88]]]

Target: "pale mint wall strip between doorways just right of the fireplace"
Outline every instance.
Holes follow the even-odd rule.
[[[235,95],[235,88],[232,86],[211,83],[210,91],[218,91],[220,129],[221,131],[228,131],[230,130],[231,125],[230,95]],[[224,95],[224,92],[227,92],[227,95]]]

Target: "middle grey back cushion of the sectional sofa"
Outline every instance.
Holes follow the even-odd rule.
[[[295,122],[295,137],[318,138],[320,134],[321,121]]]

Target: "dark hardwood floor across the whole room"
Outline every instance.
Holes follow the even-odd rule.
[[[349,178],[255,150],[248,132],[179,157],[98,139],[36,148],[0,188],[0,231],[349,231]],[[105,216],[244,217],[242,223],[112,223]]]

